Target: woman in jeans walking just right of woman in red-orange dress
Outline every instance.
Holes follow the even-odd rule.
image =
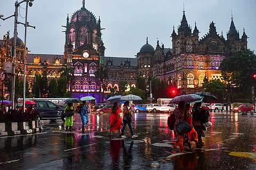
[[[131,123],[131,121],[129,119],[129,116],[131,114],[130,113],[131,112],[131,107],[129,107],[129,104],[130,104],[130,101],[125,101],[125,103],[124,103],[123,128],[122,128],[121,138],[126,138],[126,136],[124,135],[124,130],[125,130],[126,124],[128,124],[128,126],[129,126],[130,132],[132,134],[132,138],[138,137],[138,135],[135,135],[133,133],[133,130],[132,130],[132,123]]]

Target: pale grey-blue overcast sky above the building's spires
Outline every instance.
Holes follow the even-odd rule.
[[[14,14],[16,0],[0,0],[0,14],[4,18]],[[18,2],[21,2],[19,0]],[[183,3],[188,24],[194,30],[195,22],[199,37],[209,32],[211,21],[217,32],[227,38],[233,13],[240,38],[243,28],[249,37],[248,48],[256,50],[256,1],[255,0],[85,0],[85,8],[101,19],[102,39],[105,56],[134,57],[140,48],[149,44],[154,48],[156,41],[172,48],[171,33],[182,19]],[[82,0],[35,0],[28,8],[28,22],[36,29],[27,29],[27,47],[33,54],[63,54],[67,14],[71,16],[81,9]],[[19,8],[19,22],[25,22],[26,3]],[[0,20],[0,39],[10,30],[13,37],[14,17]],[[24,41],[25,27],[18,24],[18,37]]]

